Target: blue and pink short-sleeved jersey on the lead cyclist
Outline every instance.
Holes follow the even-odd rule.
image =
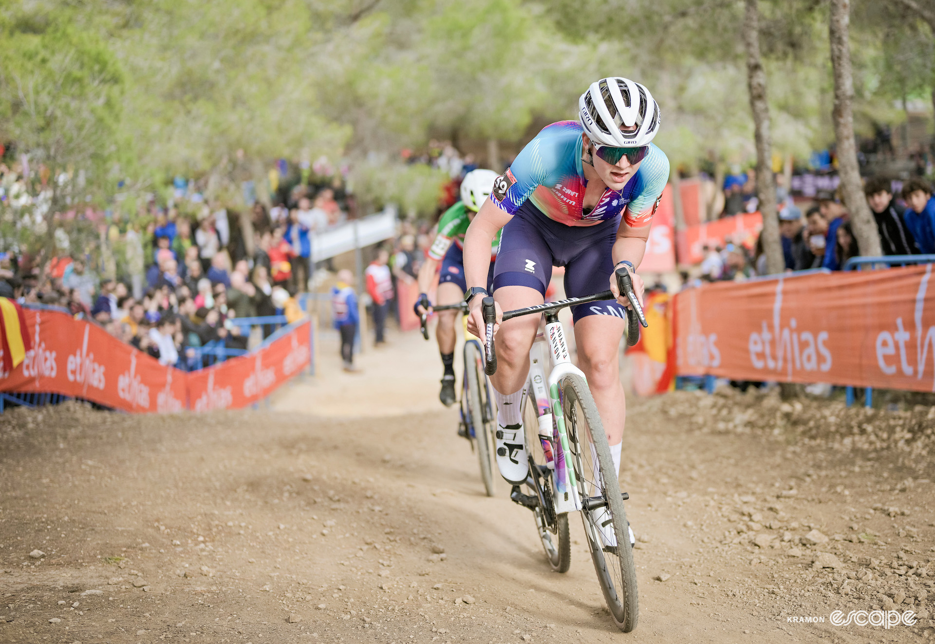
[[[510,169],[496,179],[491,199],[508,214],[529,200],[549,219],[568,226],[591,226],[616,218],[641,226],[653,218],[669,180],[669,159],[650,144],[649,154],[623,190],[608,188],[593,210],[584,214],[582,128],[577,121],[559,121],[542,131],[516,156]]]

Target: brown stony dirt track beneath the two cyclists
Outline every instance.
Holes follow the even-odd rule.
[[[756,394],[633,403],[621,479],[640,538],[640,626],[624,635],[577,517],[571,571],[551,573],[507,486],[482,496],[456,412],[435,399],[434,348],[414,334],[392,342],[347,375],[325,337],[328,375],[271,409],[0,416],[0,642],[931,635],[928,408],[866,415]],[[813,529],[829,540],[799,543]],[[835,559],[813,569],[822,552]],[[827,622],[894,600],[926,618]],[[787,621],[806,616],[826,622]]]

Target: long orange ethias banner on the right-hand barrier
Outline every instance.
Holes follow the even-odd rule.
[[[935,392],[931,277],[922,265],[688,289],[677,373]]]

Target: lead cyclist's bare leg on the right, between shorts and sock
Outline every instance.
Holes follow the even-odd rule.
[[[611,446],[623,439],[626,421],[626,397],[618,362],[625,328],[626,320],[611,315],[589,315],[575,322],[578,365],[587,377]]]

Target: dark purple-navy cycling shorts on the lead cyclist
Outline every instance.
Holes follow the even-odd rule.
[[[494,290],[528,286],[545,296],[553,266],[565,266],[565,293],[583,297],[611,286],[611,248],[620,217],[593,226],[567,226],[546,217],[526,201],[500,235]],[[575,322],[588,315],[612,315],[626,320],[626,308],[615,300],[598,300],[571,308]]]

